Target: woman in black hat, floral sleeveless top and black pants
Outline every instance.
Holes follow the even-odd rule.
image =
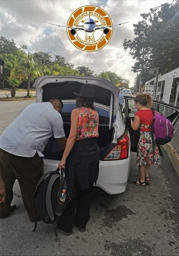
[[[80,93],[74,94],[77,95],[77,109],[71,113],[70,134],[59,162],[60,169],[65,167],[68,194],[72,200],[57,225],[64,235],[71,234],[73,223],[79,231],[86,230],[92,187],[99,173],[99,115],[94,108],[94,87],[82,85]]]

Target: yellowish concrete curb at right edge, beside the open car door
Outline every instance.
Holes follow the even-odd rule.
[[[163,147],[164,147],[170,161],[172,162],[174,169],[176,170],[176,172],[179,176],[179,154],[178,154],[178,152],[176,151],[176,149],[173,147],[173,145],[171,143],[167,143]]]

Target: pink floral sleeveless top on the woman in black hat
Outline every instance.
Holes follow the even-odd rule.
[[[88,138],[98,138],[99,115],[95,110],[89,110],[87,107],[79,107],[80,115],[78,117],[78,131],[76,140]]]

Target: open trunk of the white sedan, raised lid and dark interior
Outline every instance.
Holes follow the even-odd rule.
[[[103,153],[114,139],[113,123],[119,110],[119,89],[113,83],[106,79],[85,76],[42,76],[33,85],[36,88],[36,102],[46,102],[52,97],[60,98],[63,101],[64,107],[61,115],[65,136],[68,138],[71,111],[76,107],[76,95],[73,92],[79,93],[84,83],[92,84],[95,95],[101,97],[96,99],[94,105],[99,113],[98,146]],[[63,150],[52,137],[49,139],[43,154],[46,159],[60,160]]]

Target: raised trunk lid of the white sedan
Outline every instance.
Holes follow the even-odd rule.
[[[80,92],[82,84],[91,84],[95,88],[95,94],[101,98],[95,102],[103,105],[110,112],[110,116],[116,115],[119,110],[119,89],[110,81],[87,76],[71,75],[44,75],[36,79],[33,87],[36,88],[36,102],[48,101],[52,97],[61,100],[76,98],[73,92]]]

